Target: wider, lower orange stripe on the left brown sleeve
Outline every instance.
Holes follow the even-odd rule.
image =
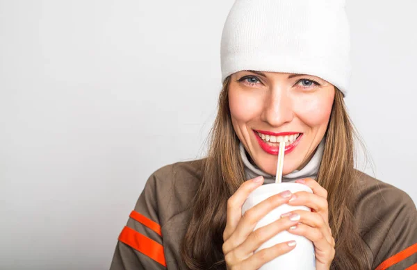
[[[124,226],[122,233],[119,235],[119,241],[131,246],[131,248],[135,248],[137,251],[147,255],[152,260],[159,262],[164,267],[167,266],[163,246],[145,235],[141,235],[136,230]]]

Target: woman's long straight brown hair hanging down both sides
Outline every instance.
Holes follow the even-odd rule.
[[[193,200],[192,217],[181,244],[181,258],[191,270],[226,269],[222,235],[226,226],[227,200],[245,181],[239,139],[231,124],[229,82],[230,76],[220,93],[202,182]],[[318,183],[328,192],[329,226],[336,242],[331,269],[370,269],[352,214],[354,191],[357,190],[355,134],[343,94],[335,87],[325,151],[317,176]]]

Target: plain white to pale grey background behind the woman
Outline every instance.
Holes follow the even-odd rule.
[[[148,176],[204,153],[232,3],[0,0],[0,269],[108,269]],[[416,9],[348,1],[345,99],[415,202]]]

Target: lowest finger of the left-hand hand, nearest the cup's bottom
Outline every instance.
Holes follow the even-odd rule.
[[[270,248],[261,249],[254,255],[250,256],[250,258],[247,258],[247,260],[244,260],[241,263],[241,269],[259,269],[266,262],[269,262],[270,260],[273,260],[280,255],[292,251],[295,248],[296,243],[292,242],[293,246],[290,246],[290,243],[291,241],[283,242],[276,244],[275,246],[271,246]]]

